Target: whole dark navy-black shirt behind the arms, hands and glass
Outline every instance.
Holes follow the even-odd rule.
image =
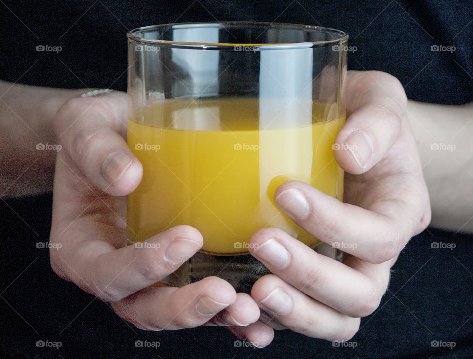
[[[0,79],[126,90],[130,29],[215,18],[277,21],[342,29],[358,48],[349,54],[350,69],[389,72],[414,100],[462,104],[473,100],[472,10],[471,1],[447,0],[3,1]],[[40,44],[62,51],[36,52]],[[430,51],[435,44],[456,51]],[[412,239],[380,308],[362,319],[355,349],[287,330],[265,349],[235,348],[223,328],[149,333],[130,327],[107,304],[55,276],[48,251],[36,248],[49,237],[50,195],[1,201],[0,207],[5,358],[473,358],[473,236],[428,228]],[[432,249],[433,241],[456,248]],[[37,340],[63,345],[37,348]],[[139,349],[135,340],[161,346]],[[435,348],[432,340],[456,346]]]

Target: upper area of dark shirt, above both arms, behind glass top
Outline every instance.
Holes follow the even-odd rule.
[[[276,20],[344,30],[349,45],[358,48],[349,54],[349,68],[389,72],[401,80],[411,99],[445,104],[473,100],[470,0],[4,4],[8,8],[2,5],[0,13],[0,78],[12,82],[20,78],[20,83],[41,86],[126,90],[128,30],[176,21]],[[39,44],[61,46],[62,51],[36,52]],[[432,52],[432,45],[455,46],[456,51]]]

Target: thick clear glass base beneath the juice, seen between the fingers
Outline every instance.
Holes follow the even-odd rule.
[[[128,240],[127,244],[133,242]],[[319,242],[312,247],[317,253],[342,260],[343,252]],[[163,278],[161,285],[183,287],[205,277],[216,276],[229,282],[236,292],[250,293],[253,284],[271,272],[256,258],[247,255],[215,256],[197,252],[174,273]]]

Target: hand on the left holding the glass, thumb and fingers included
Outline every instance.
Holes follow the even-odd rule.
[[[202,246],[195,228],[176,226],[157,233],[146,241],[148,248],[124,247],[124,196],[142,176],[141,164],[124,140],[126,103],[121,92],[78,97],[55,116],[63,150],[56,160],[53,191],[50,242],[61,244],[50,251],[54,272],[111,302],[118,315],[141,329],[255,322],[258,306],[223,279],[208,277],[182,288],[153,286]]]

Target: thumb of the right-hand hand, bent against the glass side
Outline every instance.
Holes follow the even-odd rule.
[[[350,71],[346,97],[350,116],[335,139],[334,154],[345,171],[360,174],[395,143],[407,97],[398,79],[379,71]]]

